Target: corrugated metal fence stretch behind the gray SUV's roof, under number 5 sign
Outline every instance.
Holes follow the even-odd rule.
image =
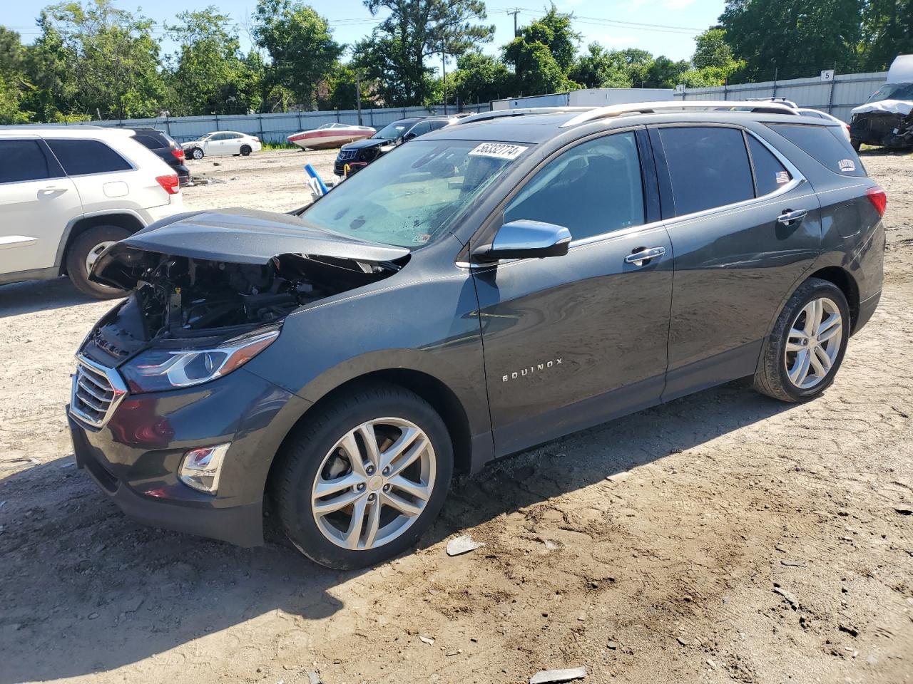
[[[868,99],[887,78],[887,72],[870,74],[837,74],[833,80],[821,77],[792,78],[766,83],[745,83],[739,86],[718,86],[716,88],[686,88],[676,93],[683,99],[751,99],[787,98],[800,107],[819,109],[849,123],[850,109],[858,107]]]

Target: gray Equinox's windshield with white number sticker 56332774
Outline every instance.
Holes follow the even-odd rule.
[[[446,233],[530,148],[477,140],[415,140],[310,206],[305,223],[373,243],[420,247]]]

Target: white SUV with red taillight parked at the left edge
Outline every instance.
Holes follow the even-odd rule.
[[[80,292],[110,244],[183,210],[177,174],[132,130],[0,128],[0,284],[68,275]]]

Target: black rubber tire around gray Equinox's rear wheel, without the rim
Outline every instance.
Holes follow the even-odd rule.
[[[786,369],[787,339],[793,322],[797,320],[804,306],[822,297],[832,301],[839,309],[842,318],[840,347],[824,379],[819,380],[813,387],[802,389],[793,384]],[[771,335],[765,341],[761,362],[754,376],[754,388],[773,399],[792,403],[814,399],[834,382],[834,377],[844,360],[849,335],[850,311],[844,293],[833,283],[820,278],[809,278],[793,293],[786,306],[783,306]]]

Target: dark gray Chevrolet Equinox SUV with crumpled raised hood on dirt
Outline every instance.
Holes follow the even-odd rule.
[[[270,506],[356,567],[457,470],[744,376],[813,399],[875,311],[885,193],[821,119],[693,107],[467,122],[299,212],[111,246],[79,466],[143,523],[255,545]]]

